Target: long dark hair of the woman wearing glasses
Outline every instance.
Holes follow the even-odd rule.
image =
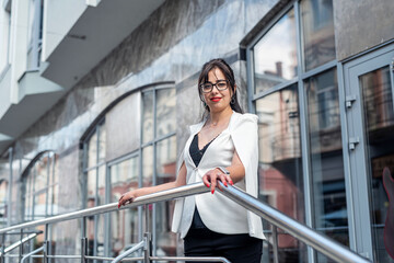
[[[234,112],[243,113],[242,107],[241,107],[241,105],[237,101],[237,96],[236,96],[234,72],[233,72],[232,68],[222,58],[215,58],[215,59],[206,62],[202,66],[201,72],[198,77],[198,94],[200,96],[201,102],[204,103],[206,113],[209,112],[209,107],[204,102],[204,99],[202,99],[204,96],[202,96],[202,91],[200,89],[200,84],[204,84],[208,81],[208,72],[216,68],[218,68],[218,69],[220,69],[220,71],[222,71],[222,73],[225,77],[225,80],[229,81],[229,83],[230,83],[230,89],[233,94],[232,99],[231,99],[231,103],[230,103],[231,108]]]

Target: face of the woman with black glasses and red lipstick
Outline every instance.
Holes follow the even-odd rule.
[[[204,100],[209,106],[210,112],[221,112],[227,110],[227,107],[231,108],[230,101],[232,98],[232,90],[229,81],[225,82],[227,89],[223,90],[223,81],[227,81],[227,79],[220,69],[215,68],[208,72],[208,82],[218,84],[219,89],[221,89],[218,90],[218,85],[213,85],[210,92],[202,91]]]

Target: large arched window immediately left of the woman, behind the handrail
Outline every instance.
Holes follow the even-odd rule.
[[[128,191],[175,180],[175,89],[158,87],[140,93],[140,96],[132,93],[117,103],[90,132],[84,142],[85,207],[114,203]],[[140,103],[136,103],[136,98],[140,98]],[[137,118],[120,122],[118,114],[125,114],[126,111],[140,114],[141,122],[135,123]],[[106,127],[107,123],[117,124],[118,129],[127,128],[131,123],[137,124],[141,136],[134,133],[124,136],[119,130],[109,134],[107,129],[114,128]],[[113,137],[114,134],[124,138],[125,145],[131,146],[128,151],[119,151],[108,145],[111,141],[123,148]],[[136,139],[140,139],[140,144],[132,148]],[[108,152],[111,157],[107,156]],[[116,152],[125,155],[116,156]],[[161,203],[148,207],[152,222],[150,229],[157,237],[154,253],[175,255],[176,236],[170,231],[173,204]],[[142,214],[142,209],[131,208],[93,216],[88,218],[86,226],[89,254],[117,256],[141,241],[141,233],[146,228],[144,213]]]

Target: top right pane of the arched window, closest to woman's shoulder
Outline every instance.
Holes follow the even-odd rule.
[[[175,89],[158,90],[157,137],[175,132]]]

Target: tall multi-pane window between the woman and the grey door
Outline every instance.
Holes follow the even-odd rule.
[[[304,0],[285,11],[248,47],[250,92],[259,118],[260,198],[349,245],[337,72],[329,66],[335,61],[333,2]],[[269,243],[266,249],[274,253]],[[280,262],[308,261],[305,244],[280,229],[278,249]],[[326,259],[318,255],[317,262]]]

